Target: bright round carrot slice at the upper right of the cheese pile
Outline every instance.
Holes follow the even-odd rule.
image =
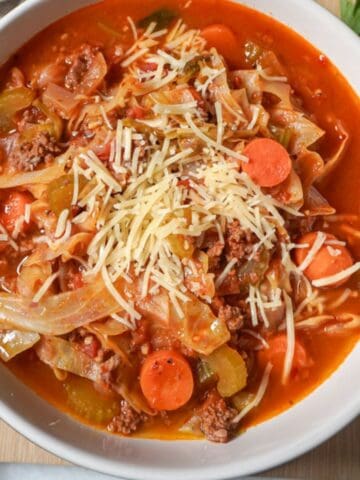
[[[275,187],[287,179],[291,172],[291,159],[280,143],[270,138],[252,140],[244,149],[248,157],[242,169],[260,187]]]

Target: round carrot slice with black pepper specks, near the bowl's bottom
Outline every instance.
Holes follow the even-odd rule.
[[[140,372],[141,390],[156,410],[177,410],[190,400],[194,379],[187,360],[173,350],[150,354]]]

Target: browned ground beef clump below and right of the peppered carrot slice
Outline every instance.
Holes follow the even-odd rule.
[[[226,443],[235,433],[236,423],[233,423],[238,411],[229,407],[216,390],[208,393],[200,408],[200,430],[207,440]]]

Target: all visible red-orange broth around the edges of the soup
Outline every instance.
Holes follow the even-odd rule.
[[[269,16],[225,0],[197,0],[187,5],[186,0],[148,0],[145,5],[141,0],[103,1],[48,27],[28,42],[11,63],[18,65],[29,79],[39,66],[47,64],[54,55],[62,50],[70,52],[84,41],[111,46],[113,38],[99,28],[99,22],[117,30],[126,25],[127,15],[137,20],[159,7],[167,6],[177,10],[189,26],[201,28],[219,23],[221,10],[222,23],[233,30],[239,42],[238,66],[244,67],[243,48],[249,40],[274,50],[279,56],[290,83],[302,98],[305,108],[312,113],[319,126],[326,130],[326,138],[320,144],[320,153],[325,157],[336,150],[338,133],[334,128],[334,119],[341,120],[350,135],[350,144],[341,166],[331,175],[322,192],[338,212],[359,214],[360,103],[341,73],[316,48]],[[356,245],[353,250],[357,253],[360,251]],[[360,311],[359,300],[352,299],[348,305],[352,306],[351,310]],[[359,332],[326,336],[310,331],[303,333],[301,338],[315,361],[308,370],[308,376],[282,385],[281,378],[272,374],[262,403],[244,419],[243,428],[282,412],[308,395],[343,362],[359,340]],[[64,389],[50,369],[37,360],[32,360],[30,364],[28,359],[28,354],[20,355],[10,362],[9,368],[40,396],[76,416],[66,405]],[[251,391],[256,391],[260,377],[261,372],[249,386]],[[154,420],[153,425],[141,428],[135,435],[163,439],[189,438],[189,435],[178,432],[179,425],[188,416],[188,411],[171,413],[170,426]]]

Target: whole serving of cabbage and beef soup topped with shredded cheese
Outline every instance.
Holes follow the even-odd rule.
[[[105,0],[0,92],[0,356],[37,394],[227,442],[346,358],[360,105],[306,40],[225,0]]]

